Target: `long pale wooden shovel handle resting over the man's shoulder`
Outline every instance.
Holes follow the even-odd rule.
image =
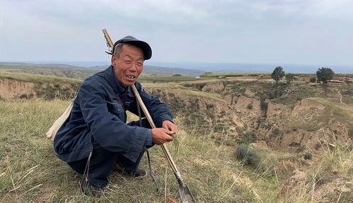
[[[104,33],[104,37],[105,37],[105,40],[107,41],[108,47],[111,49],[111,51],[114,51],[114,50],[112,50],[114,47],[112,47],[113,46],[112,39],[110,38],[108,31],[105,29],[103,29],[102,31]],[[142,111],[144,111],[144,115],[146,116],[147,120],[149,121],[149,125],[151,125],[152,128],[156,128],[156,125],[154,124],[154,120],[152,119],[151,115],[149,114],[149,110],[147,110],[146,106],[144,105],[144,101],[142,101],[141,96],[140,96],[139,92],[137,92],[135,85],[132,85],[132,92],[134,92],[135,97],[137,98],[137,101],[139,102],[139,105],[141,106]],[[161,144],[161,147],[163,149],[164,155],[166,155],[166,159],[168,160],[173,172],[175,174],[178,174],[179,178],[181,179],[178,168],[176,167],[176,165],[172,159],[172,156],[170,156],[170,153],[166,147],[166,144]]]

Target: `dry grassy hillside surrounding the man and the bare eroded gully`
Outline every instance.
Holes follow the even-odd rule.
[[[165,202],[164,195],[180,202],[178,183],[158,146],[150,152],[161,192],[156,191],[150,176],[132,179],[112,173],[102,198],[82,195],[81,176],[57,158],[52,141],[45,137],[69,104],[47,96],[67,85],[76,90],[81,80],[8,73],[0,73],[1,78],[35,82],[36,89],[45,94],[38,94],[42,95],[39,99],[0,101],[0,202]],[[329,142],[326,138],[332,132],[323,123],[299,123],[320,127],[318,151],[276,152],[264,146],[263,140],[256,140],[253,129],[245,128],[245,124],[241,127],[238,119],[243,118],[228,109],[223,93],[199,91],[207,81],[190,82],[195,88],[178,81],[142,82],[176,112],[180,133],[167,146],[197,202],[352,202],[353,144]],[[348,85],[224,81],[226,85],[228,89],[224,90],[233,91],[234,96],[246,95],[248,89],[254,92],[252,97],[270,98],[289,106],[311,96],[309,100],[330,110],[330,118],[318,122],[335,118],[343,123],[352,118],[352,88]],[[232,132],[244,139],[232,137]],[[247,142],[238,142],[239,138]],[[148,171],[146,157],[141,168]]]

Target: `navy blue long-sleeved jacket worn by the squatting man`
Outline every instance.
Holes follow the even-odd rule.
[[[139,82],[135,86],[157,127],[173,120],[166,104],[142,90]],[[94,139],[104,149],[136,162],[146,147],[153,146],[151,129],[126,123],[125,111],[138,114],[136,100],[130,87],[117,82],[112,66],[84,80],[69,118],[54,138],[59,158],[66,162],[85,159]]]

